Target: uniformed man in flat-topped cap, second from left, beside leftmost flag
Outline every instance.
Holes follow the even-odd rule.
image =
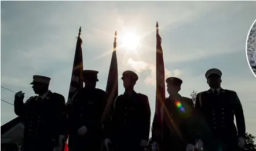
[[[72,98],[71,114],[68,117],[70,151],[100,150],[101,115],[107,103],[107,94],[96,88],[98,71],[83,70],[85,87]]]

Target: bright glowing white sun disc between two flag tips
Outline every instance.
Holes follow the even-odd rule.
[[[140,44],[140,37],[134,32],[125,32],[120,37],[120,44],[129,50],[136,50],[138,44]]]

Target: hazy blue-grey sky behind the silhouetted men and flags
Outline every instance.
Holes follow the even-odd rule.
[[[255,5],[253,1],[1,1],[1,86],[23,90],[30,97],[32,76],[39,74],[51,77],[50,90],[67,100],[81,26],[84,69],[98,70],[97,88],[105,90],[114,33],[119,38],[134,32],[141,36],[135,50],[117,48],[119,95],[124,91],[123,71],[136,71],[135,90],[149,97],[152,119],[158,21],[166,78],[181,78],[180,94],[189,97],[193,90],[209,89],[204,77],[208,69],[220,69],[222,88],[237,92],[246,131],[256,135],[256,79],[246,56]],[[14,93],[1,88],[1,99],[13,103]],[[1,101],[1,125],[15,117],[13,106]]]

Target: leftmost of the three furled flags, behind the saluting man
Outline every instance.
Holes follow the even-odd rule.
[[[75,48],[75,58],[72,68],[72,76],[70,81],[70,91],[68,93],[68,101],[66,103],[67,116],[70,114],[72,107],[72,97],[78,90],[83,89],[83,55],[82,55],[82,39],[81,35],[81,27],[79,28],[78,40],[76,41]],[[67,127],[68,130],[68,127]],[[66,135],[68,137],[68,133]],[[68,144],[65,142],[65,151],[68,151]]]

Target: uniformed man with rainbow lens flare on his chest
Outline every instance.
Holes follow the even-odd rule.
[[[182,84],[180,78],[169,77],[166,83],[170,96],[163,104],[163,127],[156,119],[153,120],[152,131],[157,132],[152,133],[153,150],[193,150],[197,138],[196,133],[192,131],[190,119],[193,114],[193,101],[178,93]]]

